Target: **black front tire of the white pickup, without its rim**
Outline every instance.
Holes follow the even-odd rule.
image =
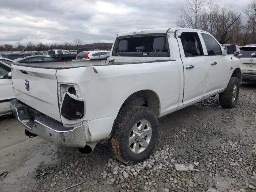
[[[233,89],[234,86],[236,86],[236,98],[233,100]],[[233,108],[236,106],[237,100],[239,96],[239,82],[238,78],[231,77],[227,88],[224,90],[224,92],[220,93],[220,105],[225,108]]]

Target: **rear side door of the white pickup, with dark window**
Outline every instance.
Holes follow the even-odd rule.
[[[176,36],[184,68],[183,104],[186,105],[203,98],[210,66],[206,62],[198,32],[178,30]]]

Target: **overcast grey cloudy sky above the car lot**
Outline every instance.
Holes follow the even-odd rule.
[[[174,27],[185,0],[0,0],[0,44],[112,42],[118,32]],[[214,0],[243,12],[250,0]]]

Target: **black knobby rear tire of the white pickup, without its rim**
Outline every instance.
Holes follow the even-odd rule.
[[[146,120],[150,123],[152,134],[144,151],[135,154],[130,149],[129,138],[133,126],[140,120]],[[144,161],[154,150],[157,140],[158,120],[150,108],[128,106],[120,110],[110,137],[110,146],[115,158],[128,165]]]

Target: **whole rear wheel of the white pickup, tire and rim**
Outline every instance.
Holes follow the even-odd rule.
[[[110,144],[114,156],[132,165],[146,160],[158,139],[158,120],[154,112],[142,106],[129,106],[118,113]]]

